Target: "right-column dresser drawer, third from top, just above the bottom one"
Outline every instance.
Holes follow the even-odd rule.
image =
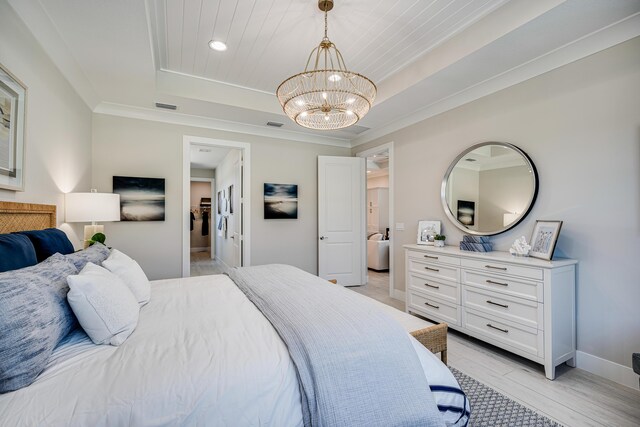
[[[544,307],[537,301],[464,286],[462,305],[480,311],[492,319],[499,318],[531,328],[543,329]]]

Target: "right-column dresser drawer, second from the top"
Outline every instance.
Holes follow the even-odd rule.
[[[540,282],[517,279],[512,276],[481,273],[473,270],[462,270],[460,272],[460,279],[464,285],[477,286],[520,298],[543,302],[543,287]]]

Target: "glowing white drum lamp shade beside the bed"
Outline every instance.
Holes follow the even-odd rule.
[[[67,193],[66,222],[120,221],[120,195],[113,193]]]

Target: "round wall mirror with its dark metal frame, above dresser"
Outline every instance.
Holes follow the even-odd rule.
[[[444,211],[468,234],[489,236],[515,227],[538,194],[538,173],[524,151],[483,142],[460,154],[442,180]]]

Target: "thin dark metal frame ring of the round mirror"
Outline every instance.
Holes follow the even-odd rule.
[[[518,154],[520,154],[524,158],[524,160],[527,162],[527,164],[529,165],[529,167],[531,168],[531,171],[533,173],[533,194],[531,195],[531,198],[529,199],[529,202],[527,204],[527,208],[520,214],[520,216],[514,222],[512,222],[508,226],[503,227],[502,229],[496,230],[496,231],[470,230],[469,228],[465,227],[463,224],[461,224],[458,221],[458,219],[454,216],[453,212],[451,212],[451,209],[449,208],[449,205],[447,204],[447,182],[449,181],[449,176],[451,175],[451,172],[453,171],[453,168],[456,167],[458,162],[464,156],[466,156],[467,154],[469,154],[470,152],[472,152],[476,148],[484,147],[485,145],[499,145],[499,146],[510,148],[510,149],[514,150],[515,152],[517,152]],[[474,236],[493,236],[493,235],[496,235],[496,234],[504,233],[505,231],[512,229],[516,225],[520,224],[520,222],[522,222],[522,220],[525,219],[527,217],[527,215],[529,215],[529,212],[533,208],[533,204],[535,203],[536,198],[538,196],[538,186],[539,186],[539,184],[538,184],[538,171],[536,169],[536,166],[533,164],[533,161],[531,160],[531,158],[527,155],[527,153],[525,153],[524,151],[522,151],[521,149],[519,149],[515,145],[509,144],[508,142],[495,142],[495,141],[481,142],[480,144],[475,144],[475,145],[472,145],[471,147],[467,148],[458,157],[456,157],[453,160],[453,162],[451,162],[451,165],[449,165],[449,168],[447,169],[447,171],[444,174],[444,178],[442,178],[442,186],[441,186],[441,189],[440,189],[440,201],[442,202],[442,207],[444,208],[444,213],[447,215],[447,218],[449,218],[449,221],[451,221],[453,223],[453,225],[455,225],[460,230],[464,231],[467,234],[471,234],[471,235],[474,235]]]

